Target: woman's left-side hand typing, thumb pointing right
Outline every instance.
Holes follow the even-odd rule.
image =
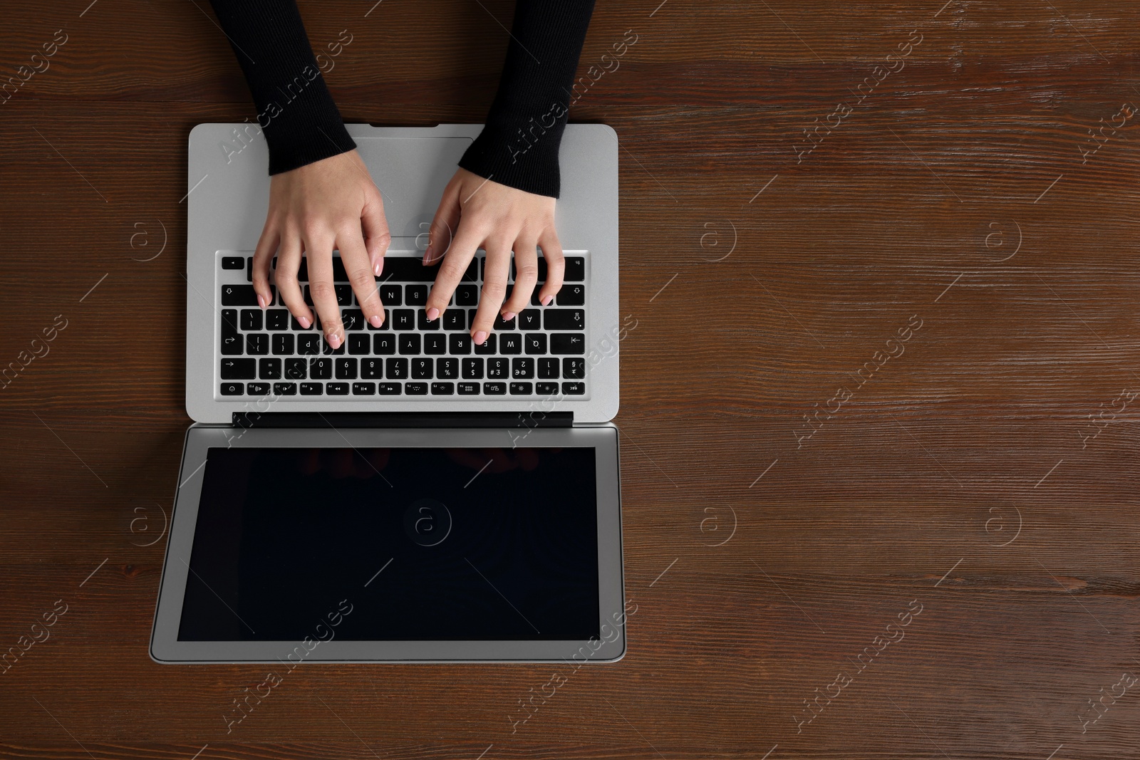
[[[269,213],[253,254],[253,289],[261,308],[272,300],[269,262],[277,254],[277,289],[282,302],[306,328],[312,312],[296,279],[301,254],[309,260],[309,293],[328,345],[344,342],[341,308],[333,288],[333,248],[341,252],[352,292],[373,327],[384,321],[375,277],[392,240],[384,202],[356,150],[274,174]],[[446,303],[446,302],[445,302]]]

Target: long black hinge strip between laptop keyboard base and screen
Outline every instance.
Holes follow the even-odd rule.
[[[235,411],[235,427],[571,427],[572,411]]]

